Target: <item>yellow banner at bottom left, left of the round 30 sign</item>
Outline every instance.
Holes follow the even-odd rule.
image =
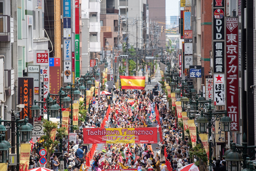
[[[29,144],[20,144],[20,171],[28,171],[29,170],[30,150],[31,150],[30,143]],[[19,161],[17,161],[17,162],[19,162]],[[4,171],[7,171],[7,169]]]

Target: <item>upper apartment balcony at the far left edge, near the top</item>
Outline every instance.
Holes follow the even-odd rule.
[[[13,17],[0,15],[0,41],[13,41]]]

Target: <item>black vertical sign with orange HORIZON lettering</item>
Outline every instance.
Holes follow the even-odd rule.
[[[29,123],[33,123],[31,106],[34,105],[34,78],[18,77],[18,104],[24,104],[20,112],[20,119],[29,117]]]

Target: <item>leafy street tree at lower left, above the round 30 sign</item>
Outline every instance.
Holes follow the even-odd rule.
[[[55,148],[58,148],[59,140],[63,139],[64,136],[67,136],[67,133],[65,132],[66,128],[64,127],[58,128],[58,124],[55,122],[47,121],[47,119],[42,119],[42,122],[43,122],[42,126],[44,127],[44,130],[43,130],[44,135],[41,136],[40,139],[44,140],[42,143],[43,143],[43,146],[46,147],[47,161],[48,161],[46,167],[49,168],[49,161],[50,161],[51,154],[54,152]],[[50,134],[53,129],[57,130],[55,140],[51,139],[51,134]]]

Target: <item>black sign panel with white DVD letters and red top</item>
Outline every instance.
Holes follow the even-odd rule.
[[[215,9],[213,11],[213,40],[224,40],[224,11]]]

